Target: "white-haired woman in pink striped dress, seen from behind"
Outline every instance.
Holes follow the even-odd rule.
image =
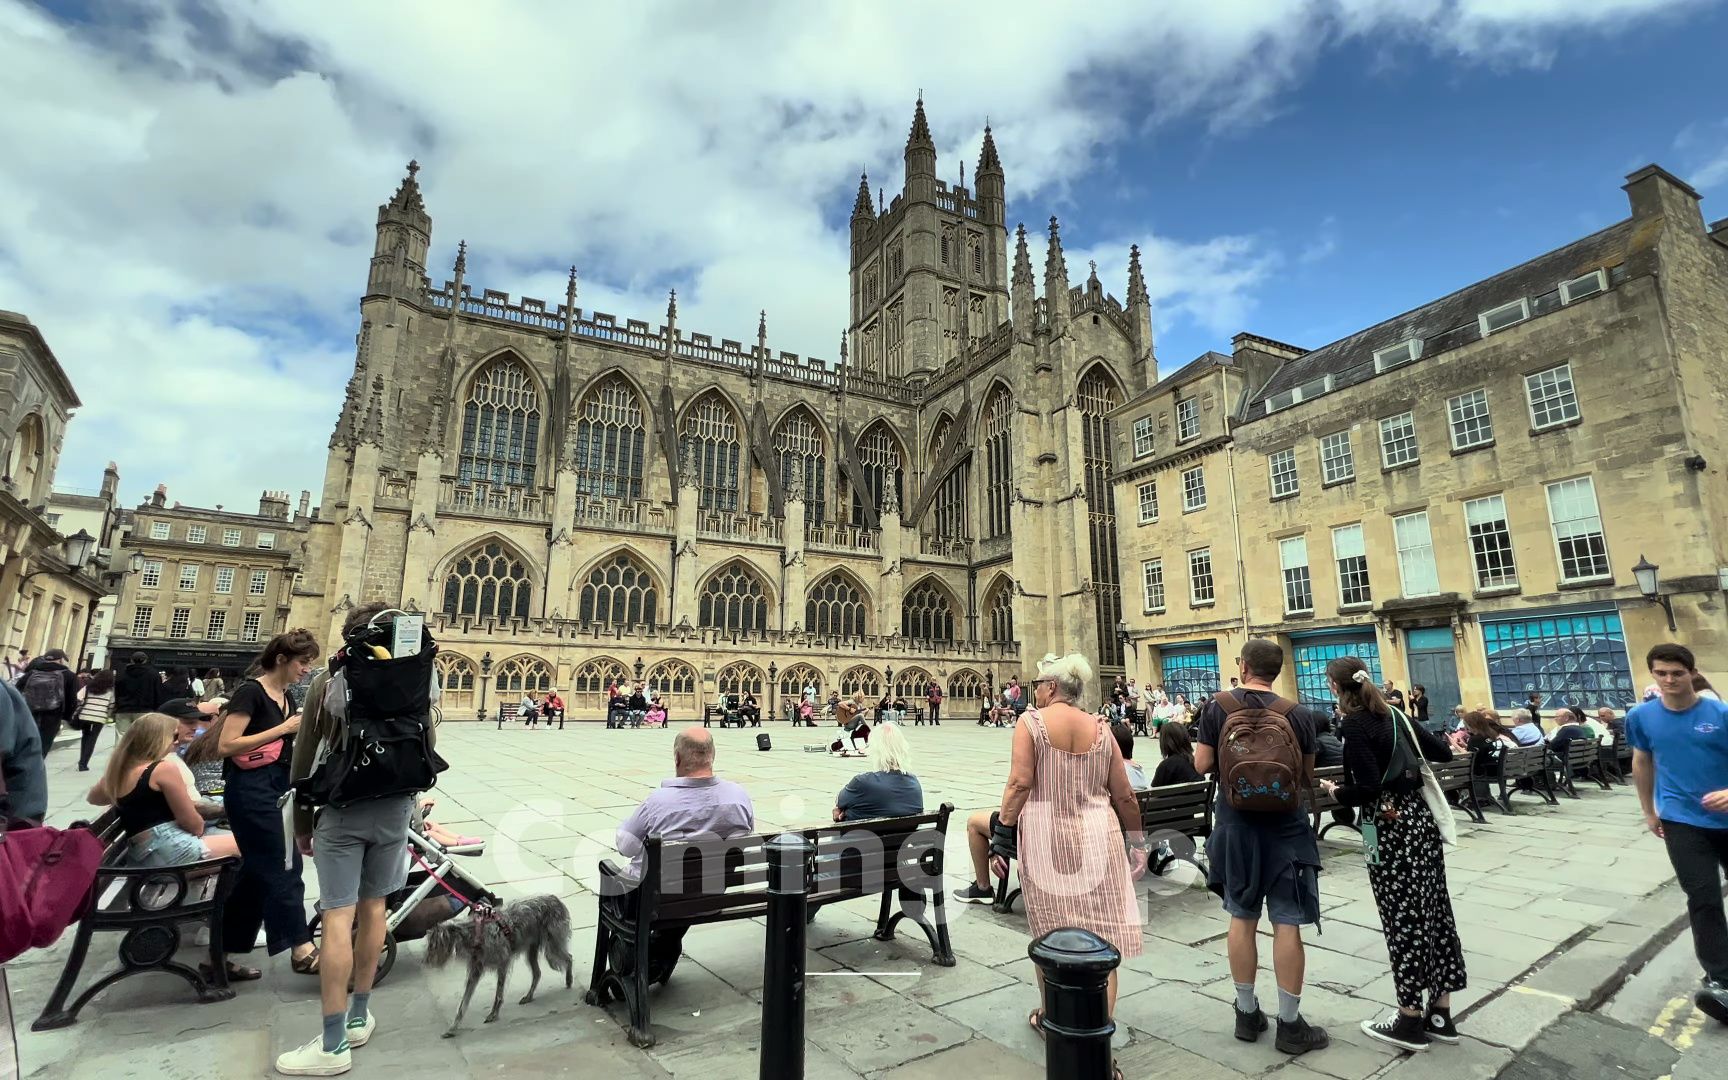
[[[1146,873],[1146,836],[1121,746],[1096,715],[1075,707],[1090,677],[1092,665],[1078,653],[1039,662],[1035,708],[1014,727],[1001,819],[1020,829],[1020,886],[1032,937],[1078,926],[1123,957],[1140,956],[1134,880]],[[1109,1011],[1116,1011],[1115,971]],[[1033,1009],[1026,1023],[1042,1033],[1044,1009]]]

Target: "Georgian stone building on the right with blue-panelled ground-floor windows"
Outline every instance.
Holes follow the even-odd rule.
[[[1719,686],[1728,221],[1655,166],[1626,195],[1452,295],[1312,351],[1237,335],[1120,410],[1130,670],[1204,695],[1270,636],[1303,702],[1350,653],[1439,712],[1623,708],[1678,639]]]

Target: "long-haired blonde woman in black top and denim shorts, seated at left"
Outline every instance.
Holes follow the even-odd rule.
[[[233,836],[204,828],[175,757],[178,727],[162,712],[138,717],[90,788],[90,802],[119,812],[131,866],[185,866],[240,854]]]

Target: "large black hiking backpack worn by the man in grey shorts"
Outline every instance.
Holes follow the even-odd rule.
[[[330,660],[323,703],[335,731],[299,785],[302,807],[418,795],[449,769],[430,736],[437,643],[422,631],[420,651],[401,658],[389,655],[389,624],[361,627]]]

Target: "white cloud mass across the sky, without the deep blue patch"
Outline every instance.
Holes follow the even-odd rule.
[[[945,176],[990,116],[1011,219],[1083,218],[1068,185],[1118,140],[1253,124],[1341,40],[1531,64],[1692,0],[157,7],[67,28],[0,0],[0,304],[86,403],[64,484],[112,456],[126,498],[244,505],[318,484],[373,209],[411,156],[435,280],[465,237],[482,287],[558,301],[577,263],[584,308],[655,320],[676,285],[688,328],[750,339],[767,308],[774,347],[833,356],[850,178],[899,187],[918,86]],[[1293,257],[1111,232],[1113,292],[1139,242],[1159,323],[1220,335]]]

